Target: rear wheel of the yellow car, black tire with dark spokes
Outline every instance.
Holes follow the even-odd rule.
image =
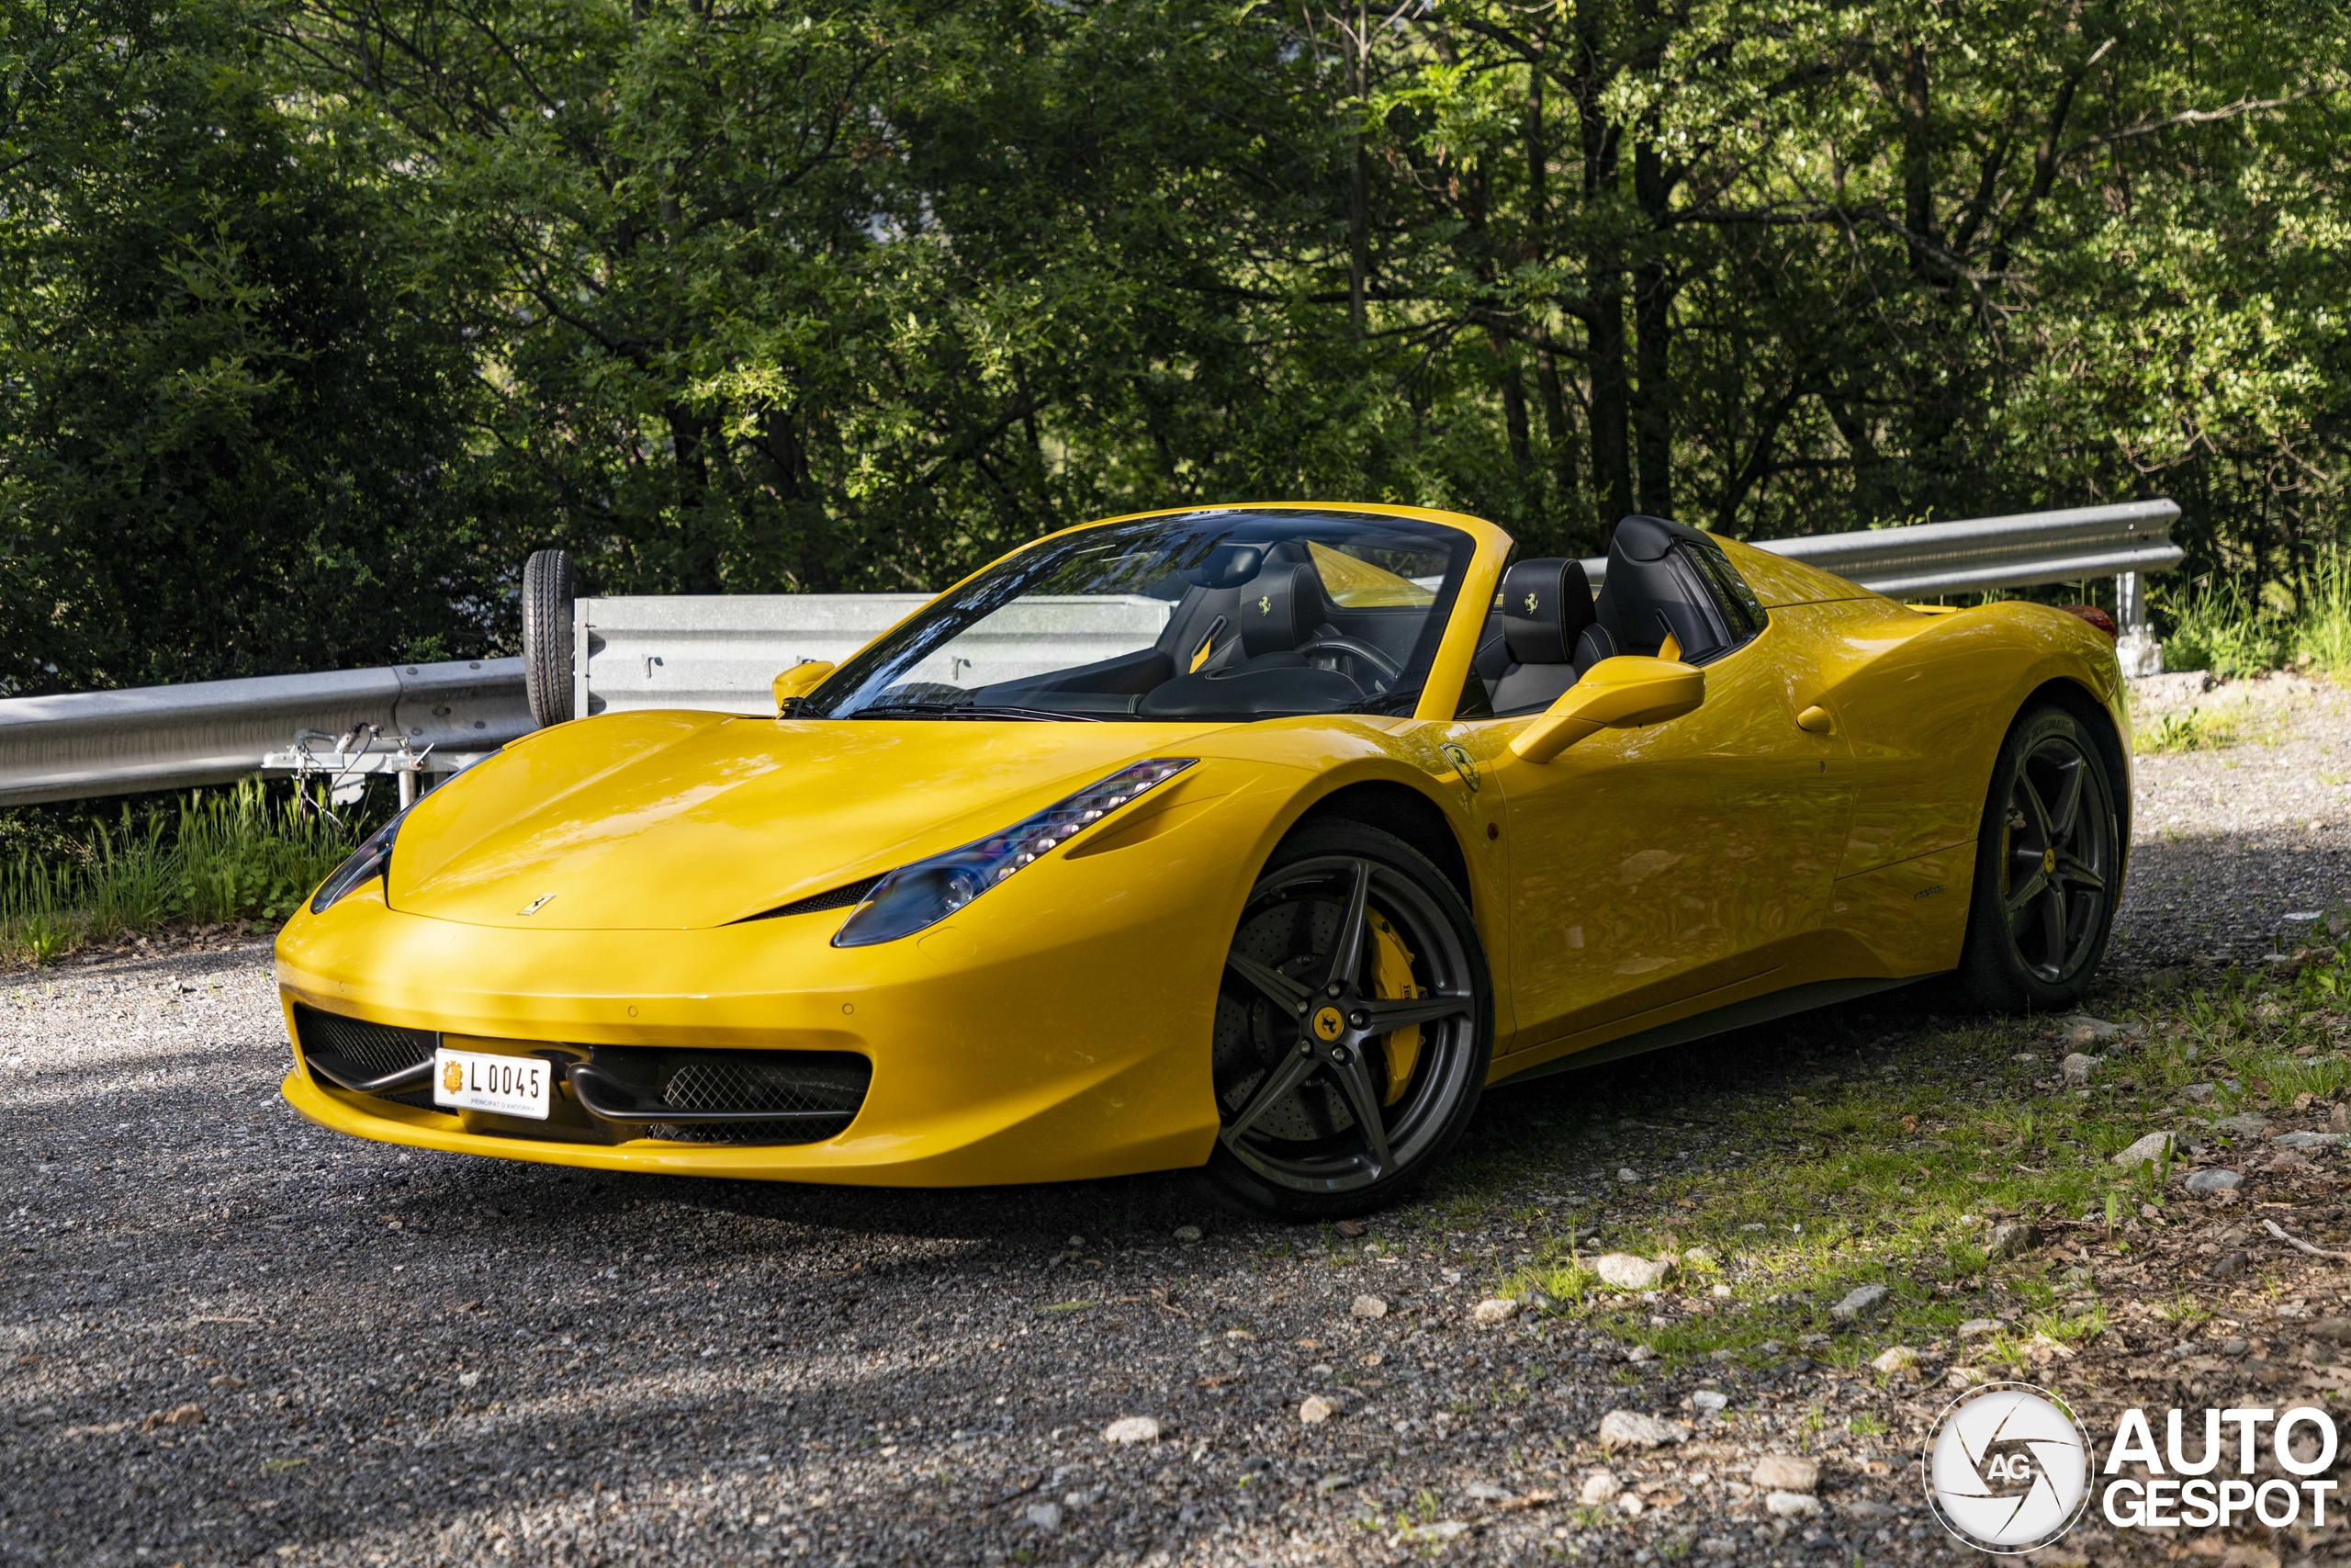
[[[1958,983],[1996,1013],[2081,1004],[2123,891],[2125,813],[2092,719],[2036,701],[2008,729],[1984,797]]]

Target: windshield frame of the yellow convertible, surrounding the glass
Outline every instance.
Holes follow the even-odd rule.
[[[1307,708],[1298,712],[1187,712],[1187,715],[1150,715],[1150,712],[1020,712],[990,701],[973,703],[940,703],[936,712],[922,712],[905,703],[884,701],[886,691],[905,684],[905,677],[924,661],[952,644],[957,637],[980,625],[987,616],[1016,604],[1023,597],[1037,595],[1053,578],[1056,571],[1065,571],[1074,557],[1074,548],[1081,541],[1098,536],[1103,531],[1133,531],[1147,538],[1157,531],[1176,529],[1183,524],[1204,524],[1201,534],[1284,534],[1281,524],[1298,524],[1291,538],[1312,548],[1317,543],[1333,545],[1345,541],[1314,538],[1319,527],[1328,524],[1354,524],[1364,529],[1387,531],[1408,536],[1413,545],[1425,548],[1444,559],[1441,581],[1432,590],[1432,599],[1425,607],[1411,607],[1422,614],[1420,630],[1413,635],[1411,656],[1401,661],[1401,675],[1385,684],[1373,696],[1361,703],[1338,703],[1331,708]],[[1288,543],[1288,541],[1281,541]],[[1265,717],[1415,717],[1434,708],[1451,705],[1453,698],[1439,693],[1439,686],[1458,686],[1460,670],[1465,665],[1462,656],[1451,649],[1458,632],[1458,621],[1462,621],[1465,604],[1469,604],[1476,616],[1483,614],[1483,597],[1479,583],[1493,576],[1495,562],[1509,550],[1509,536],[1474,517],[1462,517],[1455,512],[1436,512],[1425,508],[1394,508],[1394,505],[1349,505],[1349,503],[1255,503],[1255,505],[1192,505],[1192,508],[1166,508],[1157,512],[1133,512],[1124,517],[1105,517],[1056,534],[1034,538],[987,567],[973,571],[955,588],[940,592],[929,604],[910,614],[905,621],[891,630],[875,637],[870,644],[858,649],[851,658],[842,663],[839,670],[830,672],[813,691],[792,701],[785,717],[797,719],[860,719],[872,712],[875,722],[886,719],[952,719],[952,717],[1002,717],[1002,719],[1041,719],[1041,722],[1166,722],[1183,717],[1190,722],[1258,722]],[[1427,581],[1427,578],[1418,578]],[[1392,609],[1392,607],[1366,607],[1366,604],[1333,604],[1335,609]],[[1401,607],[1394,607],[1401,609]],[[1474,618],[1474,616],[1472,616]],[[1474,635],[1474,630],[1472,630]],[[1074,665],[1077,668],[1077,665]],[[875,679],[893,675],[889,686],[875,689]],[[985,686],[973,689],[985,691]],[[1434,701],[1432,701],[1434,693]],[[860,698],[863,701],[856,701]],[[849,703],[856,705],[849,705]],[[997,710],[997,712],[990,712]]]

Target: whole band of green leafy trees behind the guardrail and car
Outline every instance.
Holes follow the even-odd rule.
[[[2339,0],[1366,16],[5,12],[0,682],[494,651],[541,543],[938,588],[1300,496],[1592,552],[2163,491],[2243,595],[2189,646],[2346,668]]]

